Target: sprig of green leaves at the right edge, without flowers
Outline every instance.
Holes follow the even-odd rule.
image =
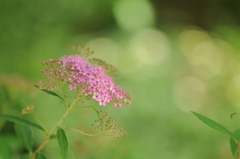
[[[240,129],[237,129],[234,132],[229,131],[226,127],[223,125],[215,122],[212,119],[209,119],[203,115],[200,115],[196,112],[192,112],[199,120],[201,120],[206,125],[210,126],[213,129],[216,129],[222,133],[227,134],[230,137],[229,143],[231,147],[232,155],[235,159],[240,158]],[[233,116],[237,113],[233,113],[230,117],[233,118]]]

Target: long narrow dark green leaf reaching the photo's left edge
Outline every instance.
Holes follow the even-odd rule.
[[[28,120],[16,117],[16,116],[7,115],[7,114],[0,114],[0,118],[8,120],[8,121],[12,121],[14,123],[19,123],[19,124],[24,124],[24,125],[28,125],[28,126],[31,126],[31,127],[35,127],[35,128],[38,128],[38,129],[44,131],[44,129],[41,126],[39,126],[39,125],[37,125],[37,124],[35,124],[33,122],[30,122]]]

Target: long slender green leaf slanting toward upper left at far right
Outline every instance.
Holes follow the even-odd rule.
[[[234,138],[234,139],[236,140],[236,138],[234,137],[234,135],[233,135],[227,128],[225,128],[224,126],[222,126],[221,124],[219,124],[219,123],[213,121],[212,119],[209,119],[209,118],[207,118],[207,117],[205,117],[205,116],[203,116],[203,115],[200,115],[200,114],[198,114],[198,113],[196,113],[196,112],[193,112],[193,111],[192,111],[192,113],[193,113],[196,117],[198,117],[199,120],[201,120],[203,123],[207,124],[207,125],[210,126],[211,128],[216,129],[216,130],[218,130],[218,131],[221,131],[221,132],[223,132],[223,133],[231,136],[232,138]]]

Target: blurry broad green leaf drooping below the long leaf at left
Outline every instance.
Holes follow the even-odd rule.
[[[29,152],[32,152],[34,142],[34,135],[32,129],[29,126],[18,123],[15,123],[14,128],[22,144]]]

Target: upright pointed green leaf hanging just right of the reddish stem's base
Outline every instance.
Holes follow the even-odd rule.
[[[63,129],[58,128],[57,130],[57,139],[58,139],[58,145],[61,150],[62,159],[67,158],[67,150],[68,150],[68,142],[67,137]]]

